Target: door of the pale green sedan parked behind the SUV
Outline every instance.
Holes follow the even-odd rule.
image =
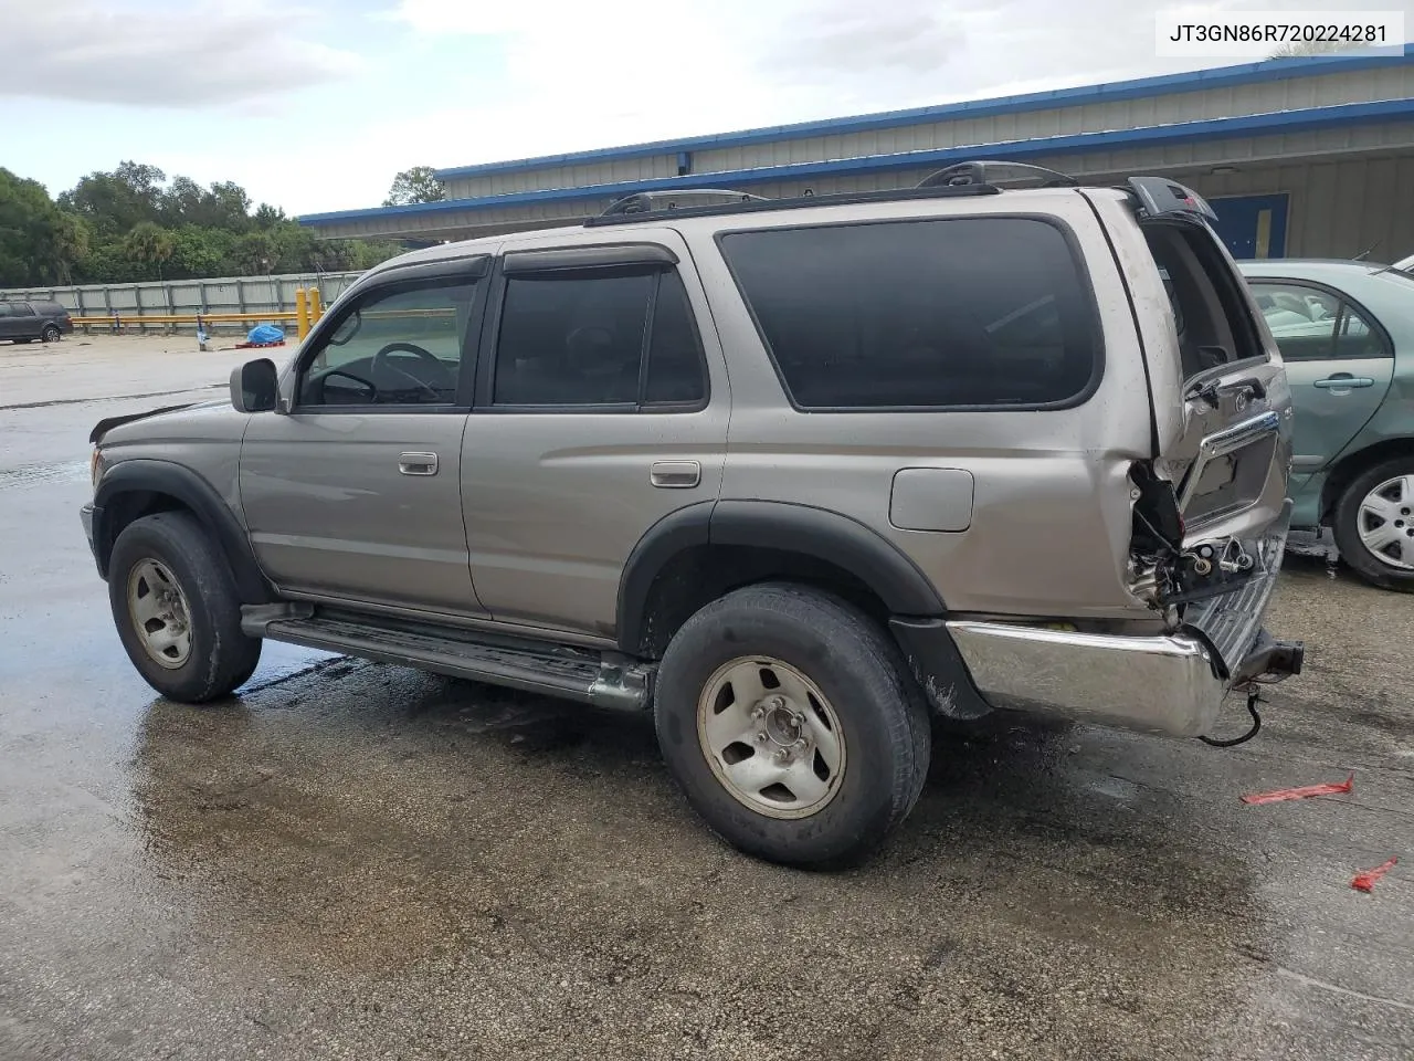
[[[1292,488],[1333,461],[1374,416],[1394,375],[1394,351],[1367,310],[1301,280],[1250,282],[1287,362],[1295,405]]]

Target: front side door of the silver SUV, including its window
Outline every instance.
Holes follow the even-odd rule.
[[[395,269],[339,307],[250,419],[240,499],[280,590],[478,615],[461,443],[485,257]],[[464,371],[465,369],[465,371]]]

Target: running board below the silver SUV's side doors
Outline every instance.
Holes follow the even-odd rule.
[[[478,637],[465,630],[344,613],[247,615],[243,627],[252,637],[560,696],[617,712],[646,712],[658,671],[653,663],[590,649],[499,635]]]

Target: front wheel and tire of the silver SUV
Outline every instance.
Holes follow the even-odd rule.
[[[260,662],[260,639],[240,631],[226,557],[187,512],[158,512],[123,529],[109,560],[107,596],[127,658],[171,700],[225,696]]]

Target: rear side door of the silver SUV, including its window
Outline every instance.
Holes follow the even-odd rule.
[[[706,296],[677,233],[633,236],[655,242],[506,255],[462,456],[498,620],[612,635],[633,546],[718,495],[730,395]]]

